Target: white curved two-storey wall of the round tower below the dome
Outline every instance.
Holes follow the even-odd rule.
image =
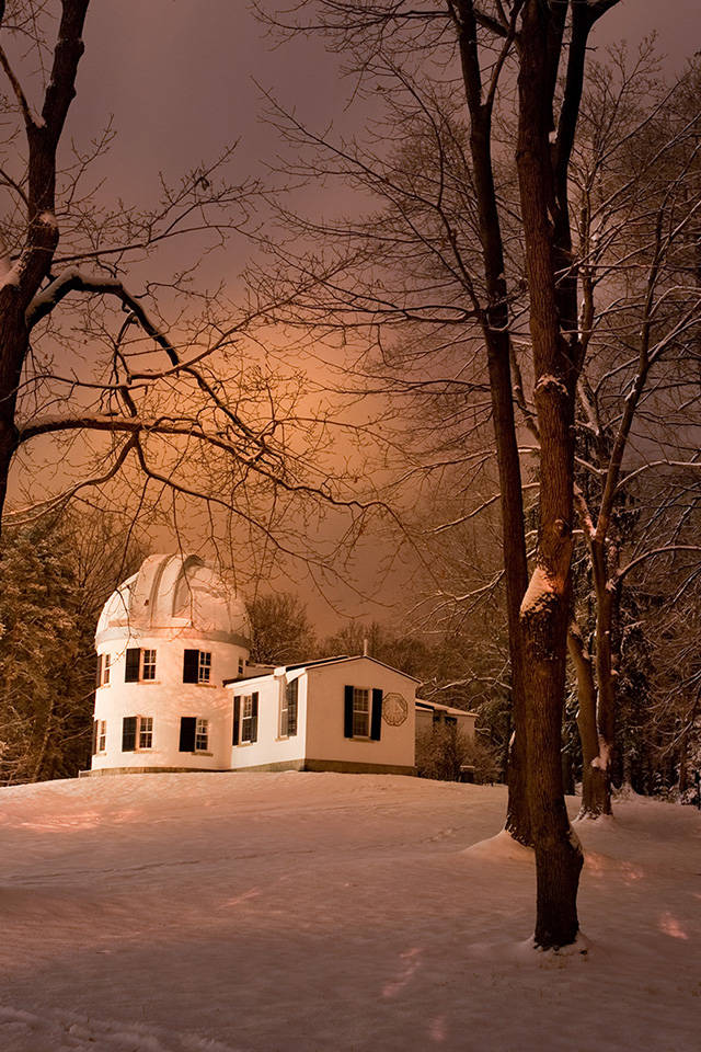
[[[156,650],[156,679],[125,683],[127,647]],[[183,654],[186,649],[209,651],[209,684],[183,683]],[[95,720],[106,721],[106,748],[92,757],[92,769],[176,767],[221,770],[231,761],[231,695],[222,679],[239,672],[245,661],[242,645],[203,638],[192,629],[175,632],[161,629],[149,634],[133,633],[127,640],[103,641],[99,654],[111,655],[110,684],[95,690]],[[148,750],[122,751],[124,717],[153,718],[153,745]],[[181,753],[182,717],[209,721],[209,747],[206,753]]]

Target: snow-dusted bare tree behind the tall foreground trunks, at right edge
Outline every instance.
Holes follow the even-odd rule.
[[[655,73],[652,45],[593,69],[572,175],[588,319],[576,505],[595,628],[593,656],[576,622],[570,652],[579,684],[581,813],[590,817],[611,810],[624,582],[648,559],[701,552],[699,75],[691,66],[669,89]],[[641,490],[651,474],[657,487]]]

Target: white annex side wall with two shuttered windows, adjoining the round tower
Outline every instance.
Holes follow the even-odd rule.
[[[297,687],[297,734],[280,736],[280,700],[286,683],[298,681]],[[245,767],[266,767],[278,764],[301,766],[304,758],[307,728],[307,676],[295,670],[285,677],[277,675],[245,679],[229,684],[230,723],[233,725],[233,699],[253,694],[258,696],[257,740],[231,747],[229,734],[229,765],[234,769]]]

